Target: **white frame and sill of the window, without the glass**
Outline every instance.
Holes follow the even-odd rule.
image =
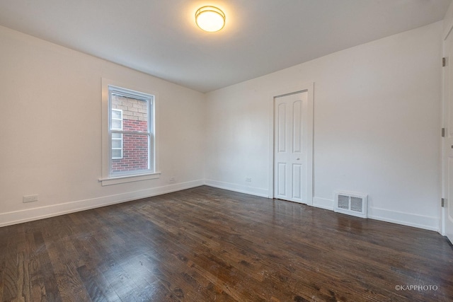
[[[149,122],[148,132],[130,132],[130,134],[149,135],[149,168],[147,170],[127,171],[122,173],[112,173],[112,133],[122,133],[122,129],[112,129],[110,112],[112,93],[147,100],[149,102]],[[124,83],[102,79],[102,176],[99,179],[102,185],[116,185],[124,182],[135,182],[140,180],[151,180],[159,178],[158,149],[156,135],[156,93],[148,89],[136,88]],[[129,134],[129,132],[127,132]]]

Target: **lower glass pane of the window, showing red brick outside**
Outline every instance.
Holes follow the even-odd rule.
[[[112,173],[148,170],[149,135],[123,134],[122,142],[122,158],[112,160]]]

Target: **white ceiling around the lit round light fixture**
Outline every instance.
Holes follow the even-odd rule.
[[[0,25],[197,91],[442,20],[452,0],[0,0]],[[197,8],[226,13],[218,33]]]

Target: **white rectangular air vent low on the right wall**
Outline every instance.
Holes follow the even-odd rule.
[[[334,210],[338,213],[367,218],[368,195],[336,192]]]

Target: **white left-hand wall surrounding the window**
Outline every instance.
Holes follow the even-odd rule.
[[[0,66],[0,226],[202,185],[202,93],[2,27]],[[103,77],[158,93],[160,179],[98,182]]]

